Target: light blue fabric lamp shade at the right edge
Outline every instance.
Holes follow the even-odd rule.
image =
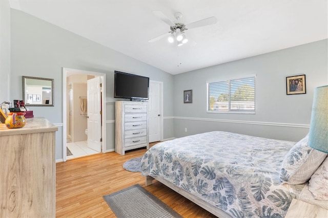
[[[310,123],[310,147],[328,153],[328,85],[314,91]]]

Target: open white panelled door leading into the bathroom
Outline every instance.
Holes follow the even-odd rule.
[[[88,147],[101,152],[100,77],[88,80]]]

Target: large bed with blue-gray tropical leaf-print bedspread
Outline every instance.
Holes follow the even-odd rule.
[[[146,185],[156,179],[216,216],[284,217],[326,158],[306,140],[196,134],[152,146],[141,174]]]

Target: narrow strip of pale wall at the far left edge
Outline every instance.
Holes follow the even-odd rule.
[[[0,1],[0,104],[9,100],[10,83],[10,7],[8,0]]]

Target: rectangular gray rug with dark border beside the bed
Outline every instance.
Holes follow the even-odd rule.
[[[103,198],[117,217],[182,217],[139,184]]]

